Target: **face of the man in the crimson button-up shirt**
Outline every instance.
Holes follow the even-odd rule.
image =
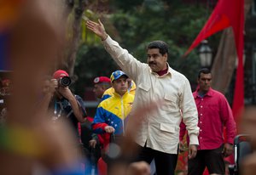
[[[207,93],[212,85],[212,74],[200,74],[200,78],[197,79],[199,90],[201,92]]]

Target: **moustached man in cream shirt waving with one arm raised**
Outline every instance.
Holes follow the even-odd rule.
[[[174,175],[179,124],[182,119],[189,132],[189,159],[195,157],[198,145],[197,110],[188,79],[168,65],[166,42],[154,41],[148,44],[148,64],[145,64],[113,41],[100,20],[98,23],[88,20],[86,25],[90,31],[101,37],[108,53],[136,82],[137,92],[133,104],[135,108],[155,99],[164,100],[159,104],[158,110],[142,121],[136,138],[140,147],[137,161],[150,163],[154,159],[157,174]],[[180,111],[183,111],[183,116]]]

